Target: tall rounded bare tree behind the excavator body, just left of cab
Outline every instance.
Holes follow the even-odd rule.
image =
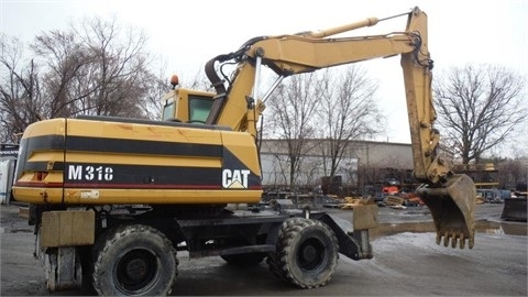
[[[73,32],[90,55],[84,81],[95,91],[82,100],[85,113],[145,117],[141,107],[155,77],[148,70],[146,34],[99,18],[84,20]]]

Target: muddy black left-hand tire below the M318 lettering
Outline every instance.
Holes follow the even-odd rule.
[[[170,293],[178,275],[178,258],[172,242],[157,229],[143,224],[119,226],[103,234],[95,248],[94,288],[99,295],[164,296]],[[127,263],[129,265],[123,265]],[[124,268],[135,268],[135,277],[146,271],[146,276],[134,283],[132,277],[127,278]]]

